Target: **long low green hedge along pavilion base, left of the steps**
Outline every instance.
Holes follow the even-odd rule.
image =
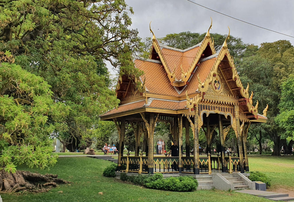
[[[127,176],[121,173],[121,180],[129,181],[133,184],[146,186],[151,189],[169,190],[169,191],[194,191],[198,186],[196,179],[192,176],[168,177],[163,178],[161,173],[156,173],[153,176],[136,175]]]

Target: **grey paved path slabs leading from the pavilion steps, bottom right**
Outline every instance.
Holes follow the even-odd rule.
[[[289,196],[288,193],[276,193],[270,191],[259,191],[259,190],[239,190],[236,192],[248,193],[254,196],[267,198],[273,201],[289,201],[294,202],[294,197]]]

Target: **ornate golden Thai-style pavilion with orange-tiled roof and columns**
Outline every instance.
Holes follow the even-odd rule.
[[[212,26],[212,24],[211,24]],[[164,46],[153,31],[149,59],[134,58],[136,68],[143,70],[140,78],[120,75],[116,86],[120,105],[103,115],[101,120],[114,121],[119,139],[118,171],[153,173],[174,172],[177,164],[182,173],[211,174],[212,169],[249,170],[246,137],[251,123],[266,122],[266,111],[258,114],[258,101],[252,103],[249,85],[245,89],[230,55],[227,39],[220,50],[214,49],[209,27],[203,41],[185,50]],[[141,81],[141,88],[136,82]],[[153,134],[156,122],[170,123],[170,131],[179,145],[178,157],[154,157]],[[123,156],[125,124],[131,123],[136,137],[135,156]],[[183,127],[186,128],[186,156],[183,156]],[[190,156],[189,127],[193,129],[193,156]],[[210,151],[213,130],[219,128],[221,155],[199,156],[198,133],[206,128]],[[225,156],[224,142],[233,128],[238,142],[238,157]],[[148,153],[139,155],[140,135],[148,141]],[[176,169],[177,170],[177,169]]]

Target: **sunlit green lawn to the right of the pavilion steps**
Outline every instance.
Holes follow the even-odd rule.
[[[294,156],[249,155],[250,171],[267,174],[271,189],[286,188],[294,191]]]

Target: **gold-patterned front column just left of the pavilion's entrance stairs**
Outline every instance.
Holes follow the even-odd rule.
[[[194,107],[194,164],[193,164],[193,172],[194,174],[199,174],[199,129],[198,129],[198,106]]]

